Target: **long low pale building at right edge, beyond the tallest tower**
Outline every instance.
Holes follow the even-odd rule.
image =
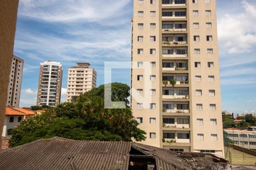
[[[256,151],[256,127],[249,127],[248,130],[224,129],[228,133],[228,138],[234,145]]]

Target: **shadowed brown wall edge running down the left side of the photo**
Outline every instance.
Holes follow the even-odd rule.
[[[0,134],[2,134],[3,118],[7,99],[7,87],[13,58],[14,36],[16,29],[16,16],[18,0],[1,0],[0,6]],[[0,139],[0,146],[2,138]]]

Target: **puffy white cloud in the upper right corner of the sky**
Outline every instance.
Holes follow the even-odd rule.
[[[250,53],[256,45],[256,6],[242,1],[242,7],[242,13],[225,14],[218,20],[218,40],[229,54]]]

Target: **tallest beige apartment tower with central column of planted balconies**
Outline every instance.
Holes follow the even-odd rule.
[[[224,156],[216,0],[134,0],[133,10],[131,108],[143,143]],[[150,103],[135,97],[148,93]]]

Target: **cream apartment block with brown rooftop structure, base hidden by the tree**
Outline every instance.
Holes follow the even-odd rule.
[[[97,73],[93,68],[89,68],[90,63],[76,64],[68,69],[67,102],[71,101],[72,96],[79,96],[96,87]]]

